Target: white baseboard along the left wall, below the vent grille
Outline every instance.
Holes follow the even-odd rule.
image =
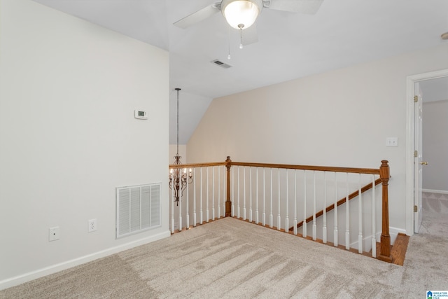
[[[51,265],[49,267],[44,267],[39,270],[31,271],[25,274],[18,275],[16,277],[11,277],[8,279],[4,279],[0,281],[0,290],[4,290],[5,288],[10,288],[11,286],[18,286],[19,284],[23,284],[27,281],[31,281],[34,279],[38,279],[40,277],[47,276],[49,274],[53,274],[62,270],[69,269],[71,267],[75,267],[77,265],[81,265],[83,263],[90,262],[92,260],[96,260],[98,258],[104,258],[106,256],[110,256],[112,254],[118,253],[120,251],[125,251],[127,249],[131,249],[140,245],[148,244],[159,239],[164,239],[169,237],[171,232],[167,230],[166,232],[160,232],[157,235],[153,235],[150,237],[146,237],[144,239],[139,239],[137,241],[129,242],[126,244],[122,244],[120,246],[112,247],[109,249],[105,249],[102,251],[98,251],[92,254],[88,254],[87,256],[81,256],[80,258],[75,258],[73,260],[67,260],[63,263],[59,263],[56,265]]]

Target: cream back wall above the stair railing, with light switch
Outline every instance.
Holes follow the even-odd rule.
[[[385,159],[390,225],[404,231],[406,77],[447,69],[447,57],[444,43],[214,99],[188,142],[188,162],[230,155],[239,162],[376,168]],[[386,147],[386,137],[398,137],[398,147]]]

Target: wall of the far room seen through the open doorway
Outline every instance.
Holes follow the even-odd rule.
[[[423,189],[448,193],[448,99],[423,102]]]

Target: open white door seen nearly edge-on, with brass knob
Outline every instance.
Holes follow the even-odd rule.
[[[419,83],[415,83],[414,90],[414,232],[419,232],[422,219],[422,111],[423,111],[423,97]]]

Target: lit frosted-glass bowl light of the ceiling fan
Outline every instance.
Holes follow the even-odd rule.
[[[223,0],[221,12],[235,29],[251,27],[263,8],[262,0]]]

